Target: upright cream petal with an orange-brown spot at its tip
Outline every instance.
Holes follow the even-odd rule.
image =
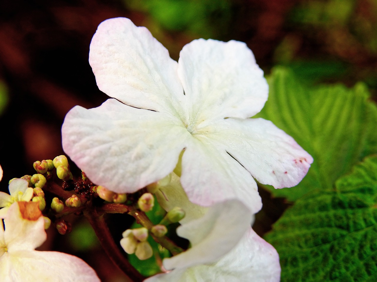
[[[13,203],[5,216],[4,240],[9,252],[34,250],[46,241],[47,235],[44,231],[44,220],[37,208],[38,204],[28,203],[31,204],[30,206],[33,209],[28,210],[28,213],[23,211],[24,215],[22,215],[20,205],[25,204],[25,202]],[[34,209],[34,206],[38,211]],[[33,218],[33,220],[25,219],[23,216]]]

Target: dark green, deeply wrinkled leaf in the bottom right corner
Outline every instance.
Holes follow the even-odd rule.
[[[282,282],[377,281],[377,156],[334,189],[297,200],[266,239],[280,255]]]

